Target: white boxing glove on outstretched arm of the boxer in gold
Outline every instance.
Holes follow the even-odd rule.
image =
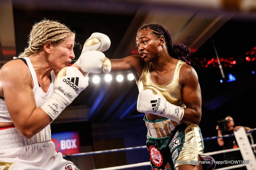
[[[109,73],[111,70],[111,62],[100,51],[85,51],[82,52],[76,64],[85,73]]]

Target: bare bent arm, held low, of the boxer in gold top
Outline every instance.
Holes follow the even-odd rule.
[[[186,108],[181,120],[186,124],[198,124],[201,120],[202,97],[196,71],[183,64],[180,71],[181,94]]]

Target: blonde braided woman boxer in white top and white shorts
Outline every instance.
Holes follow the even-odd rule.
[[[1,68],[0,169],[78,169],[55,152],[50,134],[50,123],[88,85],[80,70],[90,68],[80,68],[82,62],[66,67],[75,58],[74,41],[64,24],[44,19],[34,24],[25,51]],[[96,60],[99,53],[104,60],[93,50],[80,58]]]

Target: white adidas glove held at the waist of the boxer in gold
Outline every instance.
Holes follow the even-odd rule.
[[[163,96],[154,95],[149,89],[139,92],[137,110],[166,117],[176,122],[181,121],[184,115],[183,107],[167,102]]]

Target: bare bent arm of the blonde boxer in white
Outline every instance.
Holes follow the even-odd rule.
[[[21,60],[6,63],[0,71],[0,83],[10,117],[24,137],[31,137],[45,128],[52,119],[36,107],[32,78]]]

